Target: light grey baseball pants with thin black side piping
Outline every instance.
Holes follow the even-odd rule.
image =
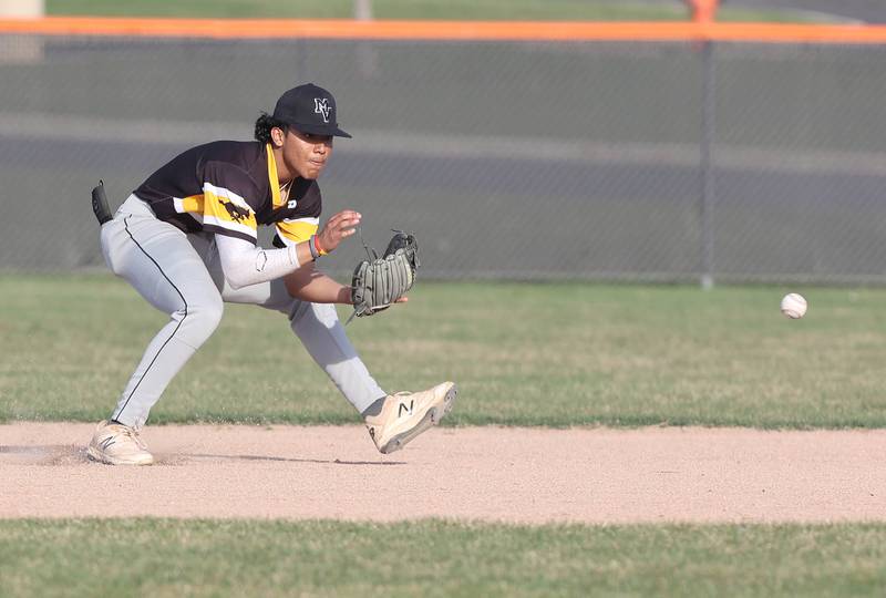
[[[215,331],[224,302],[285,313],[308,353],[358,412],[385,396],[344,333],[334,306],[293,299],[281,279],[231,289],[213,239],[213,234],[185,234],[158,220],[134,195],[102,226],[102,252],[111,270],[169,315],[145,350],[112,419],[135,429],[144,425],[175,374]]]

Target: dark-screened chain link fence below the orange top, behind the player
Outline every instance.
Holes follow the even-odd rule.
[[[0,35],[0,268],[102,267],[100,178],[120,204],[313,81],[354,135],[324,214],[414,231],[424,276],[886,282],[885,52]]]

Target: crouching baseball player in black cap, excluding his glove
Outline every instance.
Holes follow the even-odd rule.
[[[416,393],[389,394],[379,386],[333,306],[354,302],[351,287],[315,267],[361,218],[344,209],[319,226],[317,178],[337,136],[351,135],[338,126],[336,100],[315,84],[299,85],[280,96],[271,115],[259,116],[255,142],[218,141],[185,151],[147,177],[113,218],[102,217],[93,193],[100,221],[107,220],[101,228],[107,266],[169,321],[148,344],[110,419],[99,423],[91,458],[153,463],[140,431],[173,377],[218,326],[225,302],[285,315],[363,416],[382,453],[402,448],[450,411],[452,382]],[[276,227],[275,248],[257,246],[259,225]]]

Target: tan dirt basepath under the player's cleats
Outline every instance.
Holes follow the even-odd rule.
[[[152,467],[91,463],[92,425],[0,425],[0,518],[517,523],[886,520],[886,431],[153,426]]]

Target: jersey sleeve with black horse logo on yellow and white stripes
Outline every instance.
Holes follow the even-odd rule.
[[[243,168],[218,162],[206,164],[203,196],[204,230],[258,241],[259,189]]]

